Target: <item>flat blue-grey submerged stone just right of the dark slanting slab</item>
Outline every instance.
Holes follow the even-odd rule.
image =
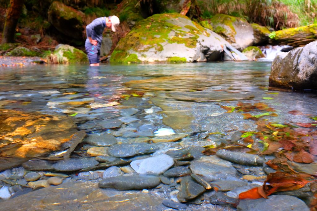
[[[94,146],[112,146],[117,144],[117,139],[109,133],[88,134],[85,141]]]

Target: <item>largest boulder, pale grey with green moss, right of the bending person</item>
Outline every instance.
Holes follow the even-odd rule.
[[[178,13],[156,14],[138,22],[118,42],[110,62],[217,61],[223,57],[227,47],[233,49],[221,36],[191,21],[187,16]],[[227,52],[231,54],[231,50]],[[239,55],[242,57],[236,57],[236,60],[244,59],[243,54]]]

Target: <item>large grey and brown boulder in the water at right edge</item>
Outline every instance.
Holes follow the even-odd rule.
[[[270,86],[317,89],[317,41],[278,55],[272,64]]]

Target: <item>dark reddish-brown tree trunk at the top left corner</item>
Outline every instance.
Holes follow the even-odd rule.
[[[18,23],[24,0],[10,0],[5,19],[2,43],[14,42],[16,24]]]

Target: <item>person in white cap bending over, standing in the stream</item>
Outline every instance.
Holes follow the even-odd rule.
[[[96,18],[86,26],[87,39],[85,48],[90,66],[99,66],[102,33],[105,27],[111,27],[112,31],[115,32],[119,23],[120,20],[117,16],[109,16]]]

